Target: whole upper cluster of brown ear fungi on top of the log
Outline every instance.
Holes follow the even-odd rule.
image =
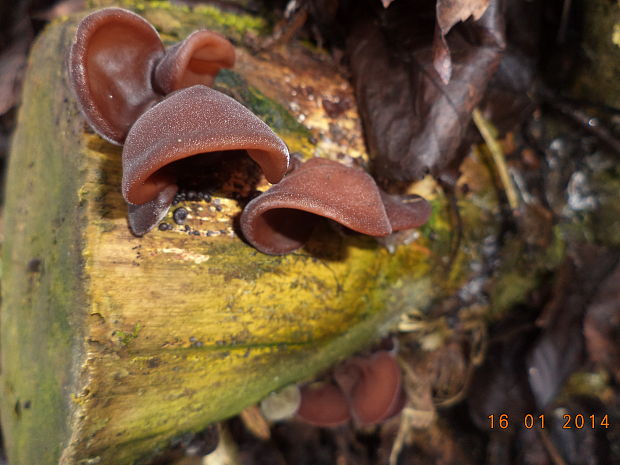
[[[244,236],[264,253],[303,246],[320,217],[376,237],[428,219],[424,199],[403,202],[385,194],[362,170],[323,159],[289,169],[286,144],[239,102],[208,87],[234,61],[230,42],[205,30],[165,49],[153,26],[119,8],[97,11],[79,24],[70,82],[93,129],[123,145],[122,193],[135,235],[167,213],[181,174],[174,162],[238,150],[269,182],[279,183],[252,200],[241,217]]]

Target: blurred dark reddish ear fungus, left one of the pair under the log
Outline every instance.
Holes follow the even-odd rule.
[[[315,383],[301,389],[297,416],[314,426],[339,426],[351,418],[344,394],[331,383]]]

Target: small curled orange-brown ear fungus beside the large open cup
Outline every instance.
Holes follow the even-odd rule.
[[[211,86],[221,68],[235,64],[235,49],[216,32],[201,30],[166,50],[155,68],[157,89],[169,94],[197,84]]]

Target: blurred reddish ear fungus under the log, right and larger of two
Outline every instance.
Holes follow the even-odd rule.
[[[354,357],[339,367],[334,377],[360,424],[379,423],[403,406],[400,367],[390,352]]]

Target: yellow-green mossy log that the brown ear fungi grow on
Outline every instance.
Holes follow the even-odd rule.
[[[204,26],[227,35],[238,63],[221,73],[218,89],[292,151],[365,164],[350,86],[319,51],[299,43],[252,51],[268,33],[258,17],[164,2],[123,6],[166,40]],[[211,204],[183,204],[192,234],[174,226],[132,236],[120,149],[86,127],[66,84],[76,24],[52,24],[32,50],[8,170],[1,413],[11,465],[139,462],[311,378],[402,315],[479,284],[500,208],[492,169],[475,154],[459,181],[458,241],[449,202],[431,179],[410,187],[431,200],[429,223],[396,247],[325,227],[298,253],[258,253],[235,232],[240,206],[226,189],[246,187],[234,182]],[[560,261],[556,232],[533,254],[522,237],[501,244],[493,255],[508,258],[484,277],[492,280],[486,308],[508,308]]]

